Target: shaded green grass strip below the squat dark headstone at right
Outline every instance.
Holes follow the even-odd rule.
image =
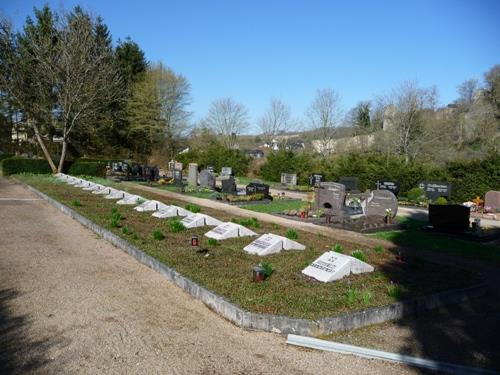
[[[396,245],[432,250],[440,253],[480,259],[500,264],[500,247],[461,239],[452,235],[426,232],[426,222],[398,217],[407,229],[378,232],[372,236],[391,241]]]

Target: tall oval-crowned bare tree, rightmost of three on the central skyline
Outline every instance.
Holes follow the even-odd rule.
[[[319,151],[325,156],[329,155],[337,127],[343,118],[340,95],[332,89],[318,90],[307,117],[318,137]]]

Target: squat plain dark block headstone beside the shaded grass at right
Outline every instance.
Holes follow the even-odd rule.
[[[463,233],[469,229],[470,208],[461,204],[430,204],[429,223],[441,232]]]

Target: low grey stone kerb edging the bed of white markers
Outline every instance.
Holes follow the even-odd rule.
[[[342,314],[331,318],[323,318],[317,321],[309,319],[289,318],[286,316],[252,313],[234,305],[225,298],[196,284],[179,272],[166,266],[150,255],[125,241],[114,233],[95,224],[68,206],[50,198],[34,187],[23,184],[28,190],[37,194],[53,207],[65,215],[76,220],[86,228],[97,233],[105,240],[111,242],[127,254],[133,256],[140,263],[148,266],[154,271],[162,274],[192,297],[199,299],[211,310],[231,321],[235,325],[275,333],[291,333],[303,336],[327,335],[336,331],[360,328],[363,326],[383,323],[389,320],[399,319],[408,315],[416,315],[426,310],[440,306],[464,302],[470,298],[480,297],[486,293],[485,284],[477,284],[468,288],[451,290],[430,296],[419,297],[410,301],[397,302],[386,306],[375,307],[354,313]]]

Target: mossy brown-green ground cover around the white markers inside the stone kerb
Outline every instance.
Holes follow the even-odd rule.
[[[137,212],[133,210],[133,206],[117,205],[115,200],[104,199],[100,195],[58,182],[52,176],[17,177],[126,239],[194,282],[253,312],[320,319],[459,288],[480,280],[478,274],[471,271],[437,265],[416,257],[401,263],[388,250],[362,248],[367,262],[375,267],[374,272],[351,275],[333,283],[320,283],[304,277],[301,271],[324,251],[332,249],[335,241],[327,237],[297,230],[297,241],[306,245],[305,251],[284,251],[259,257],[242,250],[254,237],[229,239],[216,245],[208,245],[207,237],[203,235],[208,231],[207,227],[174,232],[171,229],[174,226],[170,226],[171,220],[157,219],[147,212]],[[120,184],[115,187],[123,188]],[[183,201],[167,201],[163,196],[134,190],[133,187],[125,190],[167,204],[186,206]],[[112,209],[122,216],[118,227],[116,220],[112,220]],[[211,208],[202,208],[202,213],[223,221],[243,219]],[[258,222],[257,228],[250,229],[259,234],[272,232],[286,235],[288,228]],[[155,231],[160,231],[165,238],[155,239]],[[191,248],[192,235],[198,236],[202,249],[208,249],[208,257]],[[158,238],[158,235],[155,237]],[[338,243],[343,246],[345,254],[359,249],[355,243]],[[274,273],[264,282],[253,283],[252,267],[261,262],[270,263]]]

